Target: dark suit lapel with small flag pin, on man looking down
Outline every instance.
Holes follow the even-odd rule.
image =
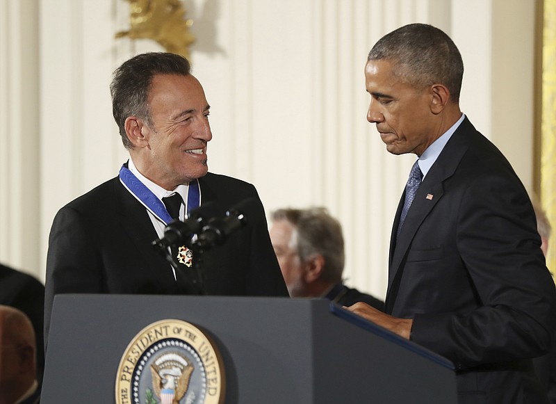
[[[468,148],[466,136],[468,136],[469,131],[475,131],[475,128],[466,118],[450,140],[448,140],[448,143],[446,143],[438,159],[436,159],[423,180],[423,183],[420,185],[415,199],[411,203],[407,217],[405,218],[400,236],[396,241],[395,234],[398,229],[398,223],[400,222],[400,213],[404,201],[404,195],[402,195],[398,211],[396,212],[390,241],[386,312],[391,312],[395,298],[398,295],[403,268],[407,259],[407,252],[411,247],[411,242],[420,225],[441,200],[444,194],[443,182],[454,175],[461,158],[466,153]]]

